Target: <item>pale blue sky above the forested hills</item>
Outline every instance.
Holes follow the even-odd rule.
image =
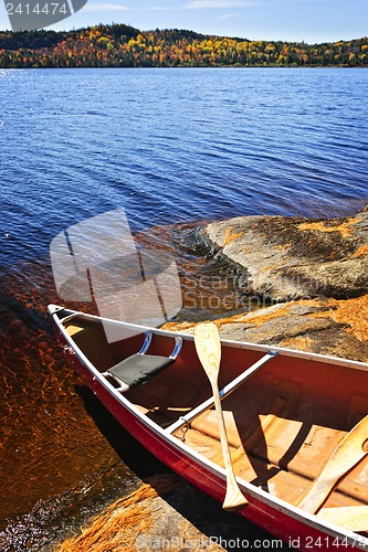
[[[17,4],[18,0],[8,1]],[[40,3],[46,1],[55,0]],[[50,29],[101,22],[251,40],[330,42],[368,35],[368,0],[88,0],[80,12]],[[0,29],[9,28],[2,2]]]

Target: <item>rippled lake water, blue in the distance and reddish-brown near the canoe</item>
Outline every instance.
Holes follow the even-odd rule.
[[[91,477],[103,484],[86,502],[151,463],[63,363],[46,316],[52,238],[118,208],[171,250],[208,220],[355,213],[368,203],[368,71],[0,70],[0,548],[21,551],[61,514],[78,522],[69,493]]]

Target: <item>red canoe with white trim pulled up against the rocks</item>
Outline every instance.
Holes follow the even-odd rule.
[[[54,305],[49,311],[67,362],[119,423],[223,501],[218,418],[193,337]],[[368,364],[251,343],[221,347],[221,405],[248,500],[239,513],[299,550],[367,550]]]

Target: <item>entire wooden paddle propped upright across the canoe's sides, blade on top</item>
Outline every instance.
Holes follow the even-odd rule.
[[[211,383],[214,408],[220,429],[222,456],[227,473],[227,495],[222,508],[224,510],[236,510],[238,508],[248,505],[248,500],[242,495],[238,486],[231,464],[228,435],[224,425],[223,412],[222,412],[219,385],[218,385],[220,360],[221,360],[221,343],[217,326],[213,322],[201,323],[199,326],[196,326],[194,343],[199,360],[201,361],[203,370],[207,373],[207,376]]]

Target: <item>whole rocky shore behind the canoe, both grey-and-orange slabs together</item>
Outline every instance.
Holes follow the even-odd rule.
[[[219,319],[222,338],[368,361],[368,208],[345,219],[244,216],[194,232],[242,294],[270,305]]]

